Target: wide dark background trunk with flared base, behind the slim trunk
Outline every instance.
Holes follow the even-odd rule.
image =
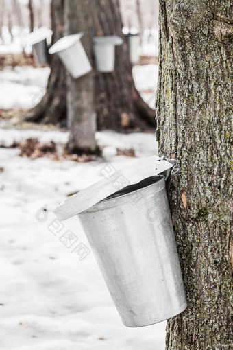
[[[55,25],[55,20],[58,17],[59,23],[62,21],[60,16],[56,16],[56,12],[62,14],[61,10],[59,11],[60,2],[61,0],[57,3],[55,0],[52,1],[53,33],[56,35],[58,25]],[[89,9],[88,14],[86,14],[86,21],[88,21],[90,28],[86,26],[86,23],[80,24],[83,23],[82,12],[76,12],[75,16],[77,31],[86,28],[87,33],[91,29],[91,36],[109,34],[122,36],[118,0],[93,0],[91,10]],[[92,38],[87,33],[82,42],[85,40],[86,49],[89,51],[92,48]],[[90,62],[94,66],[91,55]],[[29,111],[27,120],[52,124],[64,121],[66,117],[66,102],[64,100],[66,86],[64,85],[63,71],[58,57],[54,55],[47,93],[40,104]],[[53,97],[54,93],[56,93],[56,97]],[[124,130],[137,126],[140,128],[155,126],[154,110],[147,106],[134,86],[126,43],[116,47],[116,65],[113,73],[95,73],[95,112],[99,130],[104,128]]]

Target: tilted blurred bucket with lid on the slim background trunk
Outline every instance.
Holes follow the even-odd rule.
[[[64,36],[49,49],[49,54],[58,54],[73,78],[79,78],[92,70],[80,39],[84,32]]]

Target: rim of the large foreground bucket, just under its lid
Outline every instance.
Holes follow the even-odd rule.
[[[143,183],[145,183],[149,179],[151,179],[151,180],[154,179],[153,182],[150,183],[149,185],[145,185],[143,187],[140,187],[138,189],[132,190],[132,191],[127,192],[125,194],[119,194],[120,192],[128,191],[130,188],[136,187],[139,184],[143,185]],[[163,182],[163,184],[161,183],[161,181]],[[133,184],[133,185],[129,185],[129,186],[124,187],[123,189],[121,189],[119,191],[114,192],[114,194],[110,194],[110,196],[108,196],[106,198],[103,198],[99,202],[95,203],[95,205],[93,205],[92,207],[86,209],[85,211],[82,211],[82,213],[78,213],[77,215],[84,214],[84,213],[90,213],[92,211],[97,211],[97,210],[99,210],[98,209],[99,205],[103,205],[105,203],[109,204],[110,202],[112,202],[114,200],[117,200],[118,198],[125,198],[126,196],[130,196],[132,194],[136,194],[139,191],[143,191],[143,189],[148,189],[149,187],[154,186],[156,183],[160,183],[160,185],[162,185],[162,187],[159,187],[159,189],[158,189],[158,191],[161,191],[165,187],[164,176],[163,175],[154,175],[154,176],[149,176],[148,178],[144,178],[143,180],[139,181],[139,183],[136,183],[136,184]],[[114,196],[116,194],[119,194],[119,196]],[[112,197],[112,196],[114,196],[114,197]]]

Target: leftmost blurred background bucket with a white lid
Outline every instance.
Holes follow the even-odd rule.
[[[53,32],[49,28],[40,29],[29,33],[27,41],[32,45],[32,54],[36,65],[47,65],[49,63],[47,39],[51,38]]]

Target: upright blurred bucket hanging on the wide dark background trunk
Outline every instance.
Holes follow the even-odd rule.
[[[93,49],[95,55],[96,70],[102,73],[110,73],[115,67],[115,46],[123,44],[123,39],[116,35],[95,36]]]

